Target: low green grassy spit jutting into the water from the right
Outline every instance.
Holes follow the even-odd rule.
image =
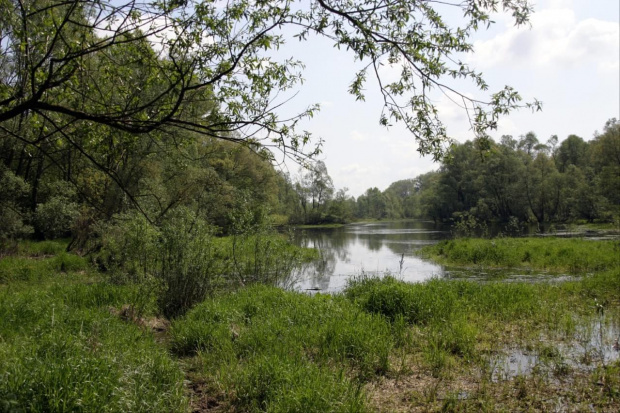
[[[583,238],[464,238],[442,241],[420,250],[442,264],[527,267],[586,273],[620,266],[620,241]]]

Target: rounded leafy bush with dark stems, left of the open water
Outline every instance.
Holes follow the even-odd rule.
[[[141,286],[140,310],[155,299],[161,314],[176,317],[201,302],[223,274],[213,230],[189,210],[171,212],[160,227],[126,214],[102,229],[95,260],[115,282]]]

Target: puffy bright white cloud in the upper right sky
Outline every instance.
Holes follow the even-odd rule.
[[[618,23],[594,18],[577,20],[573,10],[559,7],[562,4],[537,11],[531,18],[530,30],[506,26],[494,38],[476,41],[470,62],[478,68],[584,63],[595,63],[603,71],[617,67]]]

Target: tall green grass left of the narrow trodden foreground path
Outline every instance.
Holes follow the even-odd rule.
[[[176,362],[110,311],[128,296],[67,280],[0,290],[0,411],[183,411]]]

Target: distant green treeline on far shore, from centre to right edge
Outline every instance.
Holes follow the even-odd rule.
[[[541,142],[535,133],[502,136],[488,147],[455,144],[437,171],[368,188],[357,199],[334,190],[322,162],[284,182],[292,222],[421,218],[474,227],[480,223],[545,225],[605,221],[620,214],[620,122],[593,140],[570,135]],[[288,192],[286,192],[288,191]],[[292,195],[291,195],[292,194]]]

